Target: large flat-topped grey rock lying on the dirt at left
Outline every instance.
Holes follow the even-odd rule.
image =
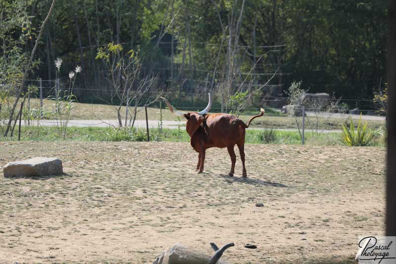
[[[62,174],[62,161],[59,158],[29,158],[8,162],[4,167],[4,177],[45,176]]]

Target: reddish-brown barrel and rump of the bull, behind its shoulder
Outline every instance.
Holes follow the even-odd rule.
[[[216,113],[206,118],[208,147],[225,148],[245,137],[245,127],[235,115]]]

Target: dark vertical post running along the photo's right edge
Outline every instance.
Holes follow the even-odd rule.
[[[388,2],[388,156],[386,235],[396,236],[396,0]]]

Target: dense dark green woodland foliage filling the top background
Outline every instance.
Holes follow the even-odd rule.
[[[7,62],[24,63],[50,3],[1,0],[2,83]],[[57,0],[31,78],[54,79],[61,57],[65,68],[82,66],[75,94],[92,98],[108,74],[95,57],[113,42],[139,50],[142,74],[157,77],[153,92],[261,98],[301,80],[310,92],[371,100],[386,79],[386,14],[386,0]],[[258,89],[274,72],[270,84],[283,86]]]

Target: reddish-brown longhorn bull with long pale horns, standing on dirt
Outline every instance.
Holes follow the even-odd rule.
[[[226,148],[231,157],[231,170],[228,175],[234,176],[234,168],[237,156],[234,152],[234,146],[237,145],[242,160],[242,176],[247,177],[245,168],[245,130],[249,127],[250,122],[259,116],[264,115],[264,109],[261,113],[250,118],[245,124],[241,119],[232,114],[214,113],[206,114],[212,106],[212,98],[209,94],[209,103],[206,108],[200,112],[182,113],[174,109],[168,100],[165,101],[169,110],[179,116],[187,119],[186,130],[190,135],[190,143],[196,152],[198,152],[198,173],[203,171],[203,162],[205,161],[205,150],[208,148]]]

